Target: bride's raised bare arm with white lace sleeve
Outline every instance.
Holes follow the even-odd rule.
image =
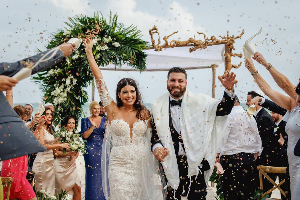
[[[108,119],[113,119],[113,113],[116,109],[118,109],[116,103],[113,101],[113,98],[110,97],[106,84],[103,80],[103,76],[101,70],[99,69],[96,60],[93,55],[93,40],[90,38],[86,38],[83,41],[85,45],[85,53],[87,54],[88,63],[90,64],[90,68],[95,77],[97,88],[99,92],[99,96],[103,106],[105,107],[105,112],[107,113]]]

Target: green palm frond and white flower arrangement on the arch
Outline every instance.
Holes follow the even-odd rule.
[[[93,54],[98,66],[113,64],[116,68],[122,68],[127,65],[143,71],[147,58],[143,49],[147,47],[147,42],[140,39],[141,31],[136,26],[126,27],[117,20],[117,14],[110,13],[106,21],[102,14],[99,16],[99,12],[93,17],[69,17],[69,22],[65,22],[67,27],[52,34],[47,49],[68,42],[73,37],[90,37],[94,41]],[[44,101],[53,103],[55,112],[59,113],[59,117],[54,119],[55,124],[60,124],[68,115],[78,119],[83,116],[82,106],[88,101],[85,88],[93,80],[84,48],[82,44],[70,57],[32,78],[40,85]]]

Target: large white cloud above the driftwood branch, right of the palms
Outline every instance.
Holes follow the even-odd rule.
[[[143,39],[147,41],[150,41],[148,32],[153,25],[157,26],[161,40],[163,40],[163,36],[174,31],[178,31],[178,33],[171,36],[169,41],[178,39],[178,37],[180,40],[187,40],[194,35],[196,38],[200,38],[197,37],[197,31],[205,32],[202,27],[195,25],[195,19],[189,9],[176,1],[171,2],[168,8],[160,10],[158,15],[138,10],[135,0],[110,0],[108,8],[113,13],[118,13],[119,22],[123,22],[125,25],[134,24],[138,26],[138,29],[142,30],[144,34]]]

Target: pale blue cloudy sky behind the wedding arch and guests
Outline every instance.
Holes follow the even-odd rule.
[[[46,50],[51,33],[65,27],[64,22],[75,14],[92,16],[100,11],[108,18],[110,11],[118,13],[118,21],[125,25],[134,24],[142,31],[142,39],[150,42],[149,29],[156,25],[161,37],[178,31],[172,39],[200,39],[197,31],[212,35],[239,35],[234,43],[233,53],[242,53],[242,45],[260,27],[263,32],[255,37],[257,51],[266,60],[297,84],[300,76],[300,14],[299,1],[137,1],[137,0],[2,0],[0,2],[0,62],[14,62],[34,55],[37,49]],[[200,51],[200,50],[197,50]],[[244,102],[247,92],[259,89],[242,58],[232,57],[232,63],[242,66],[232,69],[238,80],[235,92]],[[284,93],[272,79],[269,72],[254,61],[262,77],[271,88]],[[222,75],[224,63],[216,74]],[[160,94],[167,92],[167,72],[120,72],[102,71],[111,96],[115,98],[116,86],[121,78],[131,77],[138,81],[143,101],[151,103]],[[188,88],[193,93],[211,95],[211,69],[187,70]],[[216,98],[223,95],[221,83],[216,80]],[[91,87],[86,88],[91,97]],[[28,78],[14,87],[14,103],[36,103],[42,99],[38,86]],[[91,100],[91,99],[90,99]],[[95,94],[95,100],[99,96]]]

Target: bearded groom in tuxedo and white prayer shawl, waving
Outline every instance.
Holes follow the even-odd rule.
[[[222,101],[204,94],[194,95],[187,87],[187,73],[174,67],[168,72],[168,93],[151,104],[153,114],[151,150],[163,165],[168,185],[167,199],[205,199],[218,145],[227,116],[234,105],[235,74],[226,73]]]

